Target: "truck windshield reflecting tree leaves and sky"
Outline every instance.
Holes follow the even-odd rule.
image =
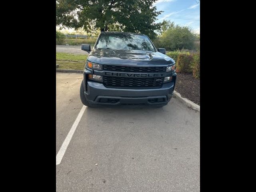
[[[147,36],[128,33],[102,33],[100,34],[96,48],[155,51]]]

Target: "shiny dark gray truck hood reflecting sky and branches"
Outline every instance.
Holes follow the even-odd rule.
[[[175,63],[172,58],[160,52],[113,49],[94,49],[90,52],[88,61],[124,66],[166,66]]]

